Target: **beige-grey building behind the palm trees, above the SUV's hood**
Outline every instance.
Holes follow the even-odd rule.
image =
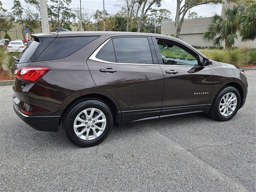
[[[229,4],[222,5],[222,13],[225,7],[230,6]],[[210,25],[212,17],[198,18],[198,19],[185,19],[180,31],[180,38],[192,46],[214,46],[210,42],[202,40],[202,35],[206,32]],[[161,34],[173,35],[175,34],[175,25],[172,19],[162,20],[161,22]],[[224,44],[223,44],[224,45]],[[256,48],[256,41],[242,42],[240,38],[236,40],[236,47],[249,47]]]

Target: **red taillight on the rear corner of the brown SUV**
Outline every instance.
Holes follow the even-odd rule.
[[[48,67],[21,67],[14,69],[14,75],[20,80],[36,83],[49,70]]]

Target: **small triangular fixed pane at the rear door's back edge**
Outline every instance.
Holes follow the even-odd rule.
[[[112,40],[108,41],[98,52],[96,58],[109,61],[116,62],[116,56],[114,52],[114,46]]]

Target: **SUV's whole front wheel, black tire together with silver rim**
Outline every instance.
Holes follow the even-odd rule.
[[[235,108],[234,108],[235,100],[231,101],[234,99],[234,97],[233,97],[233,99],[230,99],[231,102],[225,101],[225,97],[228,96],[229,98],[231,98],[232,96],[234,96],[232,94],[234,94],[236,96],[236,107]],[[209,115],[218,121],[228,121],[236,115],[236,113],[240,107],[240,101],[241,101],[241,98],[240,98],[239,91],[232,86],[225,86],[216,95],[214,102],[212,103],[212,107],[210,109]],[[220,102],[222,102],[222,103],[220,103]],[[220,104],[224,104],[224,105],[220,106]],[[221,110],[222,107],[224,107],[223,110]],[[233,108],[233,112],[230,115],[228,115],[229,111],[227,111],[227,110],[225,111],[225,108],[228,109],[230,112],[232,112],[231,109]],[[225,111],[225,113],[224,113],[224,111]]]

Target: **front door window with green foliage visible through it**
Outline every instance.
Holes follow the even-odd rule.
[[[198,65],[197,58],[179,46],[158,41],[158,47],[160,49],[164,64]]]

